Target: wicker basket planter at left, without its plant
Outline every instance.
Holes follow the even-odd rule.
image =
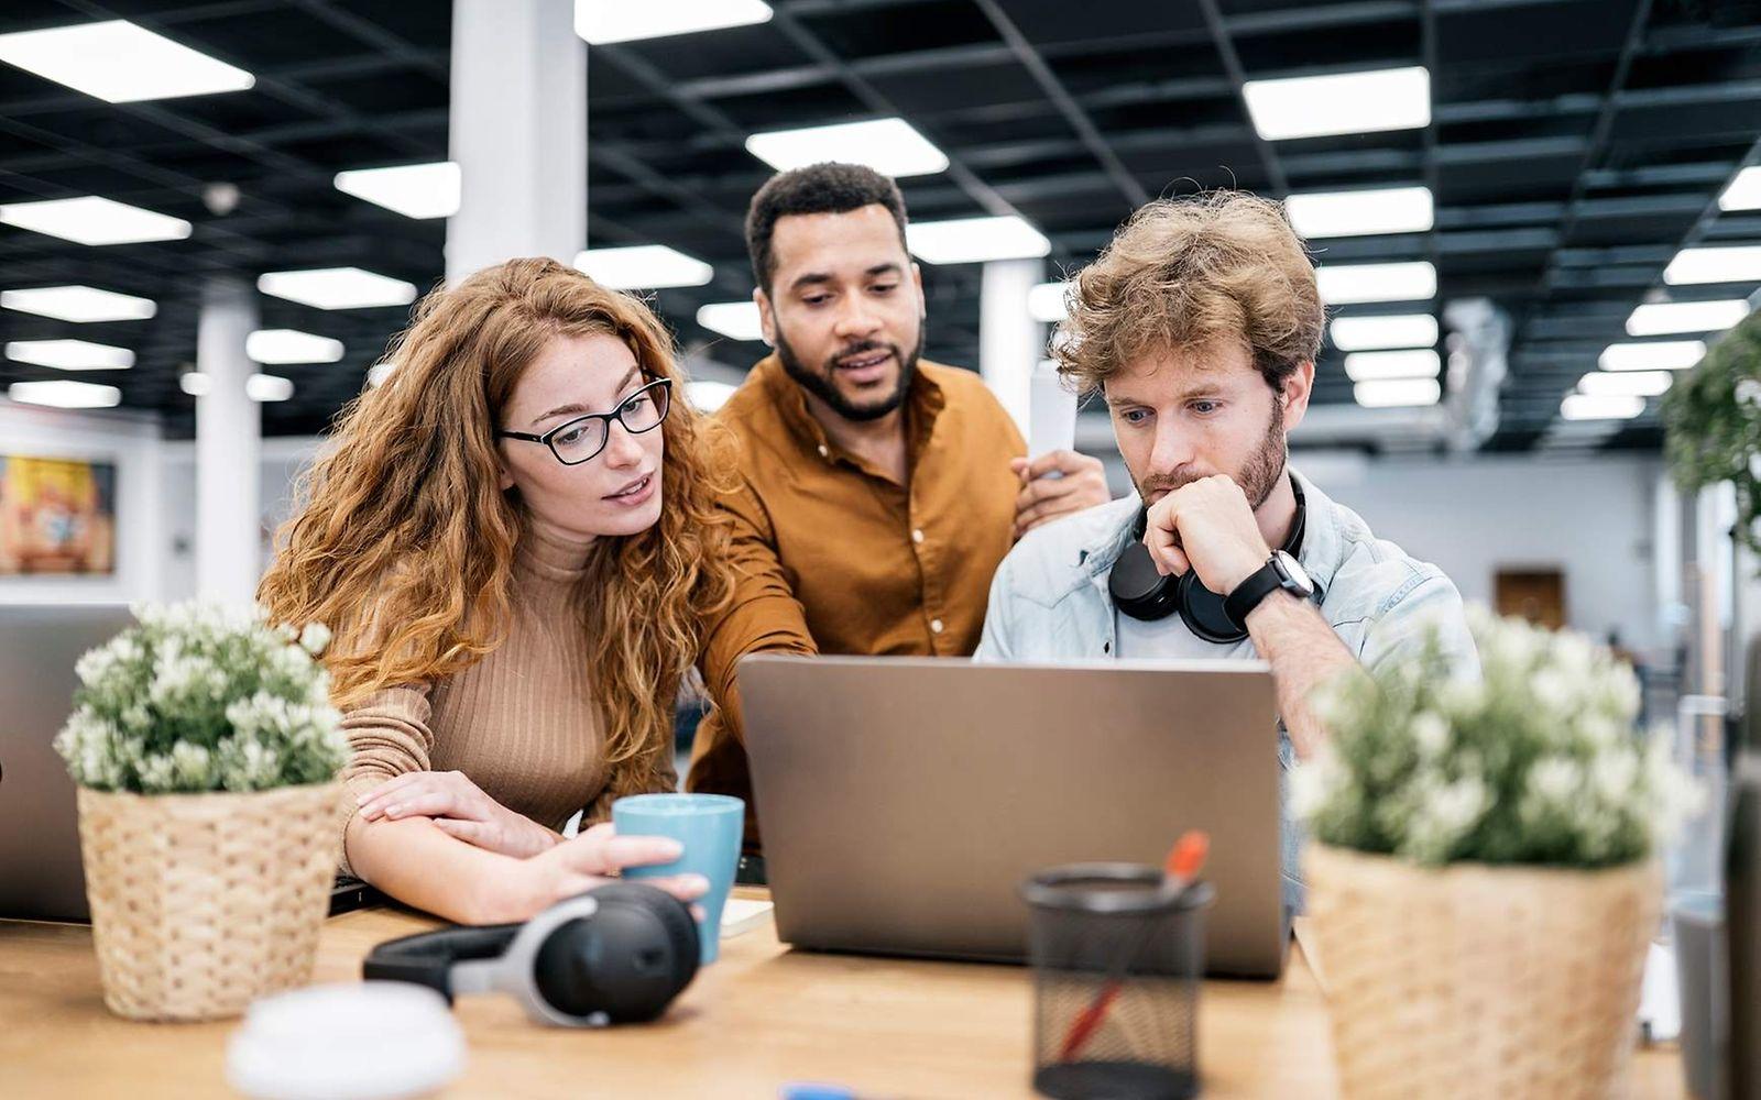
[[[312,980],[340,783],[252,794],[79,788],[104,1003],[130,1019],[238,1016]]]

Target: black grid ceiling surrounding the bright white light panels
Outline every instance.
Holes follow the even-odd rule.
[[[1013,208],[1053,239],[1048,273],[1087,262],[1139,194],[1432,187],[1433,232],[1314,246],[1333,264],[1430,259],[1444,301],[1488,296],[1511,315],[1495,451],[1536,444],[1684,243],[1761,241],[1761,213],[1708,216],[1736,169],[1761,158],[1757,0],[1652,0],[1636,35],[1638,0],[1217,0],[1215,25],[1187,0],[773,5],[763,25],[585,48],[592,241],[657,241],[710,260],[711,285],[664,290],[655,304],[689,348],[731,364],[763,348],[694,317],[750,289],[740,227],[770,169],[745,137],[882,114],[910,120],[965,169],[903,180],[912,216]],[[195,225],[188,241],[109,248],[0,227],[4,287],[79,282],[160,303],[151,320],[104,326],[5,312],[0,340],[130,347],[137,366],[113,375],[125,403],[188,429],[176,377],[195,354],[210,275],[357,264],[424,289],[440,276],[444,224],[342,195],[331,176],[446,155],[449,4],[12,0],[0,33],[99,18],[139,19],[259,81],[111,106],[0,65],[0,202],[100,194]],[[1268,144],[1236,83],[1426,58],[1426,130]],[[239,188],[236,209],[210,211],[213,183]],[[976,366],[979,269],[926,266],[925,282],[928,352]],[[264,428],[296,433],[359,391],[407,310],[262,299],[262,317],[347,347],[338,364],[285,368],[296,396],[266,407]],[[56,375],[0,361],[0,384]],[[1321,375],[1317,401],[1351,401],[1331,352]],[[1652,410],[1608,445],[1655,444]]]

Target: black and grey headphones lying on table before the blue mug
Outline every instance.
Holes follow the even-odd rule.
[[[690,908],[652,885],[613,882],[525,924],[446,928],[387,940],[361,977],[416,982],[447,998],[511,993],[537,1023],[646,1023],[697,977]]]

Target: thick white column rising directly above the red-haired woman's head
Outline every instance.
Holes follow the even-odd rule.
[[[586,246],[586,42],[572,0],[454,0],[447,144],[460,165],[449,283]]]

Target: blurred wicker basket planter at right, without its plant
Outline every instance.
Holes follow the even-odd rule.
[[[1655,862],[1433,871],[1323,843],[1303,859],[1344,1095],[1624,1095]]]

